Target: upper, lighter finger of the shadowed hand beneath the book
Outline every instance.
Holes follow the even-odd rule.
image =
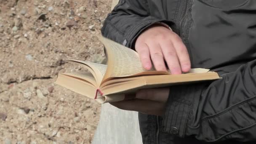
[[[169,88],[143,89],[136,93],[136,99],[147,99],[165,103],[169,97]]]

